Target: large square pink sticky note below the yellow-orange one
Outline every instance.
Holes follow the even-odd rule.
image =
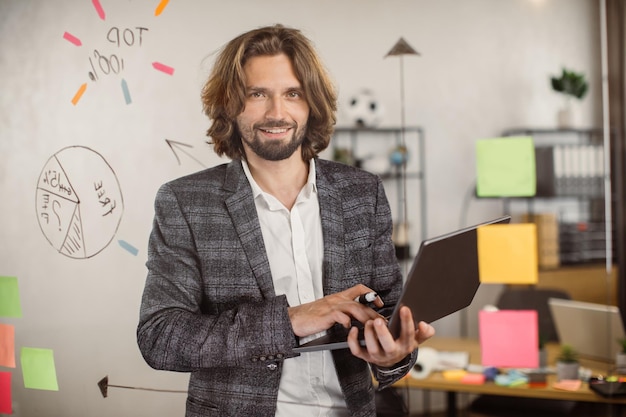
[[[539,367],[539,324],[536,310],[478,313],[483,366]]]

